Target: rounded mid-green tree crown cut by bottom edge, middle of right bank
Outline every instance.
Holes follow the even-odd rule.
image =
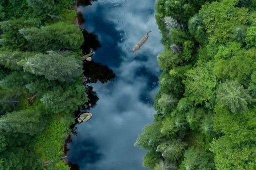
[[[181,163],[181,170],[198,169],[210,170],[214,169],[214,163],[211,160],[211,153],[207,153],[198,148],[190,147],[184,153],[184,160]]]

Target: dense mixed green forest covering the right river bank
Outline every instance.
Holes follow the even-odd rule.
[[[256,0],[157,0],[165,50],[152,169],[256,169]]]

